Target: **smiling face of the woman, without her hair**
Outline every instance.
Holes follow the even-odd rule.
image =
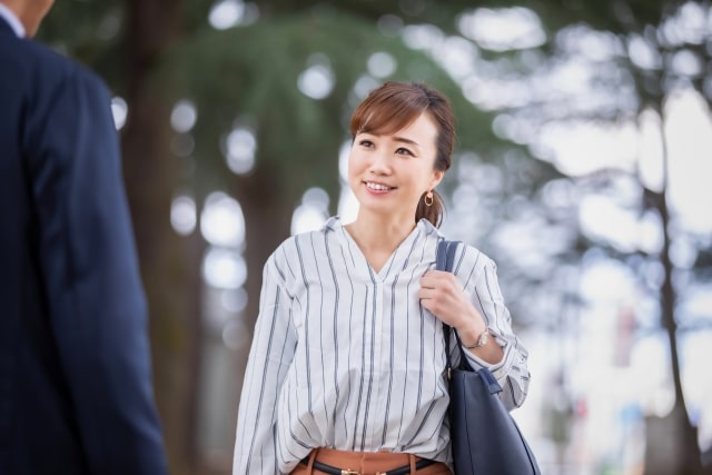
[[[423,194],[443,178],[435,170],[437,128],[429,115],[393,135],[358,133],[348,157],[348,181],[360,209],[413,219]]]

